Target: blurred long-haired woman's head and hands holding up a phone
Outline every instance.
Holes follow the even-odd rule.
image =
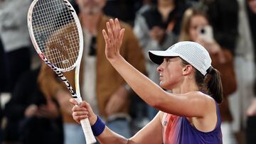
[[[180,36],[182,40],[201,43],[210,54],[218,55],[220,62],[225,62],[221,47],[213,38],[213,28],[203,11],[193,8],[185,11]]]

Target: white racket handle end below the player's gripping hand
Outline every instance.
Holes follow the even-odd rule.
[[[87,144],[96,143],[95,136],[92,133],[92,128],[90,127],[90,122],[88,118],[82,119],[80,121],[82,126],[82,131],[85,134],[85,140]]]

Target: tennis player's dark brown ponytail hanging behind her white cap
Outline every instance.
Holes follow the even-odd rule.
[[[207,70],[205,80],[210,96],[220,104],[223,101],[223,86],[220,79],[220,72],[210,66]]]

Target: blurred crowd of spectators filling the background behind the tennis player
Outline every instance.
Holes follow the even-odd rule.
[[[45,0],[41,0],[45,1]],[[72,118],[71,95],[43,64],[28,34],[32,0],[0,0],[0,142],[84,144]],[[221,73],[223,143],[256,143],[256,0],[70,0],[84,36],[82,99],[113,131],[129,138],[157,110],[132,91],[105,58],[102,29],[110,18],[125,28],[121,54],[159,84],[148,50],[178,41],[203,45]],[[105,28],[106,29],[106,28]],[[74,86],[74,71],[65,72]],[[3,102],[3,95],[9,100]]]

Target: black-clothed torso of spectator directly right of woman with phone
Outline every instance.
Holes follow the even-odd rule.
[[[234,54],[238,38],[238,1],[203,0],[214,38],[223,48]]]

